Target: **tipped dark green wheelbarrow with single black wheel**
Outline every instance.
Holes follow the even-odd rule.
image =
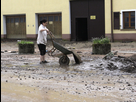
[[[73,54],[76,64],[82,63],[80,56],[75,51],[70,51],[70,50],[66,49],[65,47],[61,46],[56,41],[54,41],[54,35],[52,34],[52,32],[49,32],[48,35],[50,36],[51,41],[52,41],[52,45],[53,45],[53,48],[50,51],[48,51],[49,56],[54,57],[53,53],[57,49],[61,52],[61,54],[58,54],[58,56],[60,58],[59,59],[60,65],[69,65],[70,59],[67,56],[69,54]]]

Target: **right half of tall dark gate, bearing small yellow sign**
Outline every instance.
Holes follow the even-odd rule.
[[[105,37],[104,0],[89,0],[89,39]]]

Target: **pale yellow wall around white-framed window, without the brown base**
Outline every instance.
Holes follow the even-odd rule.
[[[111,0],[105,0],[105,33],[111,34]],[[136,9],[136,0],[113,0],[113,12]],[[113,33],[135,33],[136,30],[113,30]]]

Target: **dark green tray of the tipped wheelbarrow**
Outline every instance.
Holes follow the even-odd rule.
[[[64,48],[63,46],[61,46],[60,44],[58,44],[55,41],[53,41],[53,45],[57,50],[61,51],[64,55],[73,53],[72,51],[69,51],[68,49]]]

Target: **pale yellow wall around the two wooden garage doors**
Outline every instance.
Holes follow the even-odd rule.
[[[69,0],[2,0],[1,1],[1,34],[3,15],[26,15],[26,34],[37,34],[36,13],[62,13],[62,34],[70,34]],[[29,25],[29,26],[28,26]]]

